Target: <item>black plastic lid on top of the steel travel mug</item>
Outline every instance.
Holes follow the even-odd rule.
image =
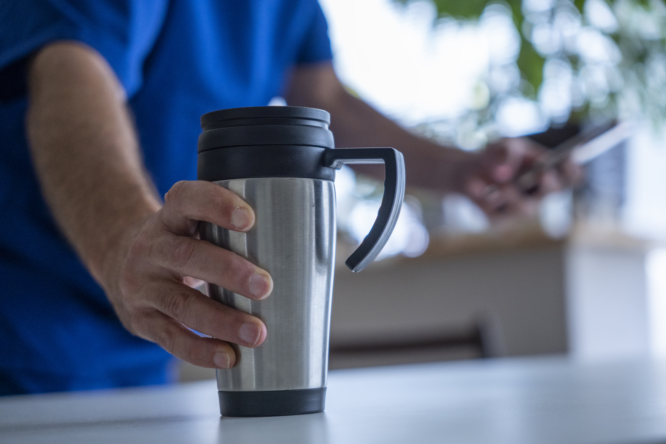
[[[330,114],[302,107],[222,109],[201,116],[198,178],[303,177],[333,180],[322,163],[334,148]]]

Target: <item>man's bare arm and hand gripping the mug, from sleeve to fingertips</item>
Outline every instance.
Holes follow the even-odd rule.
[[[203,367],[234,365],[225,340],[262,343],[266,327],[258,318],[185,285],[198,278],[255,300],[270,294],[267,272],[196,239],[197,220],[249,230],[252,208],[198,181],[175,184],[162,206],[143,168],[123,88],[89,47],[59,42],[39,51],[29,69],[29,99],[28,138],[44,198],[125,327]]]

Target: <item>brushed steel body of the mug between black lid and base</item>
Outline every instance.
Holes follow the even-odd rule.
[[[333,182],[250,178],[214,183],[248,202],[256,223],[246,233],[202,223],[201,238],[268,271],[274,284],[262,301],[206,284],[211,298],[260,318],[268,330],[258,347],[233,345],[236,365],[217,371],[218,389],[325,387],[336,236]]]

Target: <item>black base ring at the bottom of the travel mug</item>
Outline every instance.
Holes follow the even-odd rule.
[[[218,391],[222,416],[288,416],[324,411],[326,387],[276,391]]]

